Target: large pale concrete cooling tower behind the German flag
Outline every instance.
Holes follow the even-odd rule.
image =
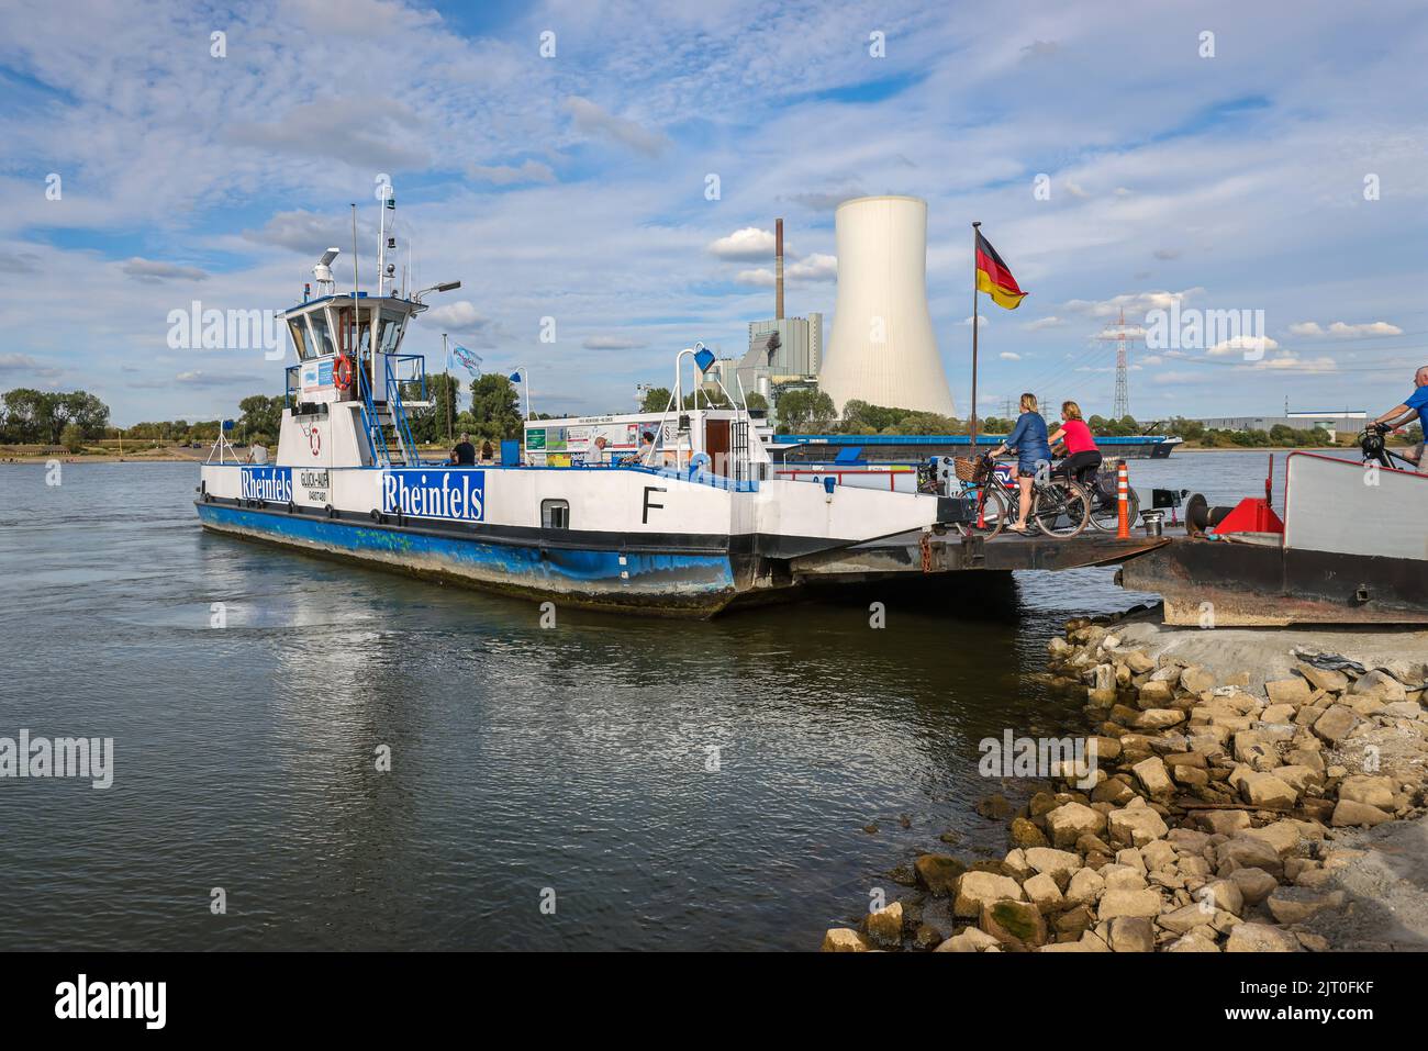
[[[857,197],[838,206],[838,301],[818,387],[851,398],[954,416],[927,313],[927,201]]]

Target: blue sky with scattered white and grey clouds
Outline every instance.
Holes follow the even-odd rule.
[[[463,283],[406,350],[524,367],[537,411],[628,411],[697,340],[741,354],[775,217],[787,313],[827,340],[834,208],[895,193],[928,201],[960,413],[977,220],[1030,293],[981,300],[984,416],[1110,413],[1121,310],[1138,418],[1377,414],[1428,363],[1425,89],[1428,10],[1398,0],[7,0],[0,390],[121,426],[280,393],[291,351],[171,347],[171,311],[280,311],[330,246],[348,287],[353,203],[370,288],[388,177],[398,274],[410,243],[411,287]],[[1262,330],[1145,346],[1171,304]]]

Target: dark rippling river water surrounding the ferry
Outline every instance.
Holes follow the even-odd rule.
[[[1228,503],[1267,458],[1132,481]],[[1071,723],[1047,640],[1145,598],[1084,570],[881,630],[850,604],[543,628],[206,534],[196,483],[0,466],[0,737],[114,755],[104,790],[0,780],[0,950],[815,948],[940,833],[1004,847],[977,743]]]

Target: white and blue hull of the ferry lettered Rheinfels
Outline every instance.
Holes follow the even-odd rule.
[[[201,490],[198,517],[217,533],[537,600],[693,617],[793,597],[791,560],[922,528],[947,510],[930,496],[641,468],[207,466]],[[543,524],[551,501],[568,527]]]

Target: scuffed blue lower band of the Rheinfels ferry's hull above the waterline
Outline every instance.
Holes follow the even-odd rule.
[[[478,540],[404,533],[311,516],[196,504],[206,526],[293,547],[351,554],[386,565],[447,575],[476,585],[520,590],[597,604],[700,607],[714,610],[735,594],[727,555],[624,554],[488,544]],[[628,574],[628,575],[621,575]]]

